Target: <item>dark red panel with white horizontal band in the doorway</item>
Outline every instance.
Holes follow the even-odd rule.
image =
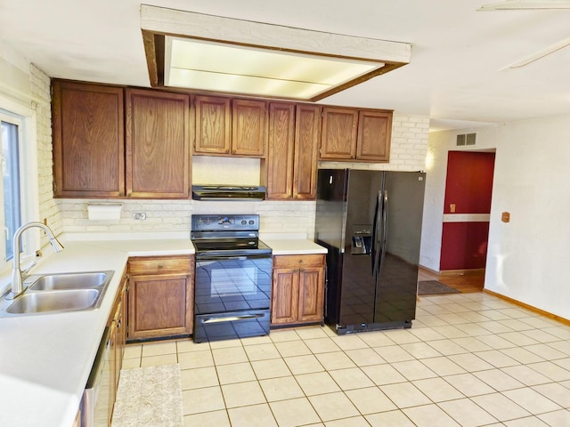
[[[450,151],[440,270],[484,269],[495,154]]]

